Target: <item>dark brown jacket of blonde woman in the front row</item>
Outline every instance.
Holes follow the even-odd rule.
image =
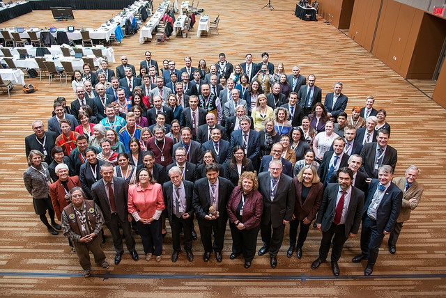
[[[294,216],[295,219],[302,221],[309,219],[312,221],[316,218],[319,207],[321,207],[322,195],[323,195],[323,184],[321,182],[313,183],[310,187],[307,198],[302,204],[302,182],[299,182],[298,178],[293,178],[294,189],[295,189],[295,205],[294,205]]]

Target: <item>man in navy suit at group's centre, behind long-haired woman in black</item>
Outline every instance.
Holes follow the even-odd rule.
[[[252,166],[257,168],[260,154],[260,134],[255,130],[249,129],[250,126],[251,119],[246,115],[241,116],[240,130],[236,130],[231,134],[231,152],[235,146],[242,146],[246,157],[251,159]]]

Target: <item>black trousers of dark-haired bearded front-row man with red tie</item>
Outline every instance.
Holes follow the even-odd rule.
[[[334,237],[333,237],[334,235]],[[322,232],[321,247],[319,248],[319,258],[325,260],[328,256],[328,251],[330,251],[330,244],[333,240],[332,248],[332,262],[337,262],[341,258],[342,249],[344,248],[344,243],[346,243],[348,237],[346,237],[346,227],[344,224],[335,225],[328,229],[327,232]]]

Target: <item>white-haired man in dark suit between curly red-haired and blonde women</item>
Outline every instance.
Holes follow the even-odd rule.
[[[277,253],[284,240],[285,225],[293,216],[295,189],[293,178],[282,173],[282,162],[273,159],[270,171],[259,174],[259,191],[263,196],[261,237],[263,246],[259,256],[270,253],[270,265],[277,266]],[[271,235],[272,229],[272,235]]]

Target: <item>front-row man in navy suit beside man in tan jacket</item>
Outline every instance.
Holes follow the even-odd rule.
[[[392,233],[403,200],[403,191],[392,182],[392,166],[380,166],[378,177],[370,182],[362,210],[361,254],[352,260],[352,262],[368,260],[364,270],[365,276],[374,271],[383,238]]]

